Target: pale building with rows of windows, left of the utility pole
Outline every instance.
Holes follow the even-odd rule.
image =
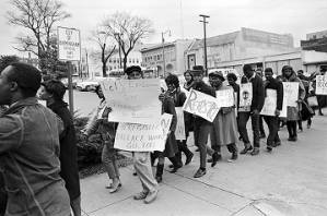
[[[184,53],[192,43],[194,40],[189,39],[177,39],[144,47],[141,49],[141,65],[144,69],[155,70],[160,76],[165,75],[164,70],[166,73],[183,74],[186,70]]]

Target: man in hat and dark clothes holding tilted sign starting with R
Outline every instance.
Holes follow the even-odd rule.
[[[202,81],[203,73],[203,67],[194,67],[194,70],[191,71],[191,74],[194,76],[194,89],[215,97],[214,89]],[[207,173],[207,142],[211,128],[211,122],[201,117],[194,116],[195,145],[200,149],[200,168],[195,173],[195,178],[202,177]]]

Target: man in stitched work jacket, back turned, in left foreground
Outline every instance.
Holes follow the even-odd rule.
[[[37,103],[40,80],[40,72],[25,63],[11,63],[0,75],[0,105],[9,105],[0,117],[5,215],[70,215],[59,176],[62,122]]]

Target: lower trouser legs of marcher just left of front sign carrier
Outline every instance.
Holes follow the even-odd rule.
[[[116,164],[116,151],[104,145],[101,158],[108,177],[110,179],[119,178],[118,166]]]

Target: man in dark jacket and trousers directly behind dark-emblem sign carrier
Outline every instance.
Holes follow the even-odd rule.
[[[279,129],[279,116],[283,105],[283,85],[280,81],[275,79],[272,75],[273,72],[271,68],[265,69],[265,76],[266,76],[265,93],[267,92],[267,89],[273,89],[277,93],[277,107],[275,110],[275,116],[264,116],[264,119],[269,129],[269,135],[267,137],[268,152],[271,152],[272,147],[276,147],[281,144],[278,135],[278,129]]]

